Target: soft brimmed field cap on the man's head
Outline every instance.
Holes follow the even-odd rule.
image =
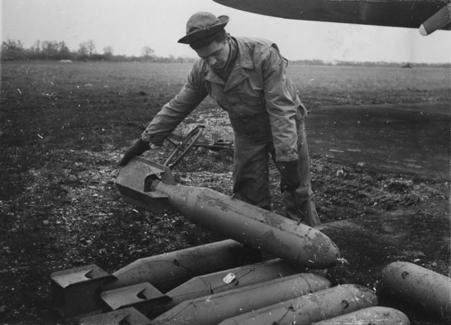
[[[229,22],[228,16],[216,17],[210,12],[196,12],[187,22],[187,35],[178,40],[179,43],[192,44],[198,39],[219,32]]]

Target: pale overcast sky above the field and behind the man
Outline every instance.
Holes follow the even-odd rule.
[[[1,38],[65,41],[71,51],[92,39],[96,51],[140,55],[150,46],[158,56],[195,57],[187,45],[187,19],[198,11],[228,15],[232,35],[277,43],[290,60],[451,62],[451,31],[427,37],[417,29],[337,24],[266,17],[212,0],[0,0]]]

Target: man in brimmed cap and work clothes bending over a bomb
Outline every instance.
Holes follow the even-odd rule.
[[[266,39],[231,37],[227,16],[197,12],[187,22],[189,44],[201,58],[180,93],[148,124],[128,148],[121,166],[164,139],[210,95],[228,112],[235,135],[233,193],[257,207],[270,209],[269,155],[280,171],[287,217],[321,229],[310,184],[305,137],[306,109],[287,77],[287,60]]]

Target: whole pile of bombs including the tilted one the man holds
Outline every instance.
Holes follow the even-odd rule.
[[[207,188],[177,186],[169,168],[141,158],[121,170],[117,186],[128,202],[155,212],[176,209],[234,240],[141,258],[113,274],[96,265],[55,272],[54,303],[69,321],[409,324],[400,311],[378,307],[367,288],[331,288],[325,268],[339,252],[316,229]],[[279,258],[261,262],[255,248]]]

